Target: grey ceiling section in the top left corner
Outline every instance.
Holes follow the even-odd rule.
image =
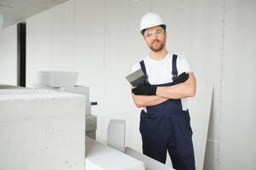
[[[3,28],[26,20],[68,0],[0,0],[0,14],[3,14]]]

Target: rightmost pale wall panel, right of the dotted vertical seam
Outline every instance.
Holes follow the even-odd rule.
[[[225,2],[219,169],[256,167],[255,8],[253,0]]]

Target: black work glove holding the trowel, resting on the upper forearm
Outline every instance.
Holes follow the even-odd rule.
[[[156,95],[156,88],[157,86],[151,85],[150,83],[145,83],[133,88],[132,92],[135,95]]]

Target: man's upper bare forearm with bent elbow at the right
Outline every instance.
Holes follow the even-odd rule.
[[[157,87],[156,95],[168,99],[182,99],[196,94],[196,78],[189,73],[190,78],[183,83],[168,87]]]

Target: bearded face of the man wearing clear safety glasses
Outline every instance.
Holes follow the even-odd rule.
[[[152,51],[158,52],[165,47],[166,32],[162,26],[148,28],[144,32],[145,42]]]

